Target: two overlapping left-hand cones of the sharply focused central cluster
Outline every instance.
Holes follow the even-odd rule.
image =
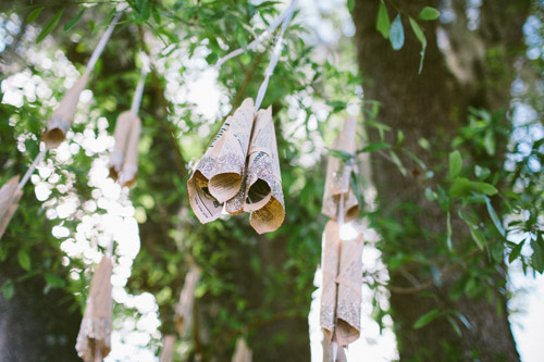
[[[247,98],[226,118],[187,182],[190,207],[202,224],[218,219],[222,204],[242,188],[254,115],[254,100]]]

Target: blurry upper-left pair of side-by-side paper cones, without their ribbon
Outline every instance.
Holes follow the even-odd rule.
[[[132,186],[138,173],[138,142],[141,121],[132,111],[125,111],[115,124],[115,146],[110,155],[110,177],[122,186]],[[120,176],[121,175],[121,176]]]

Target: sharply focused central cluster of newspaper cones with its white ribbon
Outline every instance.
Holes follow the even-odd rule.
[[[282,52],[283,37],[296,3],[292,1],[269,27],[273,32],[282,24],[255,105],[248,98],[226,118],[187,182],[190,207],[202,224],[217,220],[223,211],[230,214],[249,212],[250,225],[258,234],[263,234],[276,230],[285,219],[272,108],[259,108]],[[265,35],[252,43],[258,45],[262,36]],[[217,66],[239,53],[242,50],[230,53]]]

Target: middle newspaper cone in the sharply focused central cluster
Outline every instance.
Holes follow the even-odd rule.
[[[221,147],[212,152],[215,162],[208,177],[209,191],[220,203],[235,197],[242,187],[254,117],[254,100],[247,98],[231,117]]]

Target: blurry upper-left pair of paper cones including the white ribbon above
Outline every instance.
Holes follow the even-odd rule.
[[[149,60],[141,54],[143,66],[138,85],[134,91],[129,111],[121,113],[115,123],[113,152],[110,154],[110,177],[119,180],[121,186],[131,187],[138,173],[138,143],[141,133],[141,120],[138,111],[144,95],[146,76],[149,72]]]

